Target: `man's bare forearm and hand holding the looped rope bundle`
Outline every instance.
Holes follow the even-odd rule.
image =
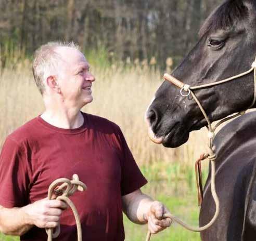
[[[0,232],[21,236],[33,225],[41,228],[56,227],[67,205],[61,200],[42,199],[21,208],[0,206]]]

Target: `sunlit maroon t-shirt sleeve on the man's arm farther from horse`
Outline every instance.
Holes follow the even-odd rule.
[[[24,148],[7,138],[0,155],[0,205],[6,208],[27,204],[29,175]]]

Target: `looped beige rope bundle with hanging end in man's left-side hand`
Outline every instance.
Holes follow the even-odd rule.
[[[62,200],[63,202],[67,203],[70,208],[73,211],[75,222],[76,222],[76,228],[78,230],[78,241],[82,241],[82,229],[81,229],[81,223],[80,218],[78,214],[78,210],[76,210],[74,204],[69,199],[69,196],[71,196],[76,190],[79,191],[85,191],[86,185],[79,181],[78,175],[74,174],[72,177],[72,180],[69,180],[67,178],[59,178],[52,182],[52,184],[49,185],[48,188],[48,199],[57,199]],[[59,195],[56,198],[54,198],[55,195]],[[60,233],[60,225],[58,225],[55,229],[55,232],[53,233],[53,229],[45,229],[48,238],[47,241],[52,241],[53,238],[56,238],[59,236]]]

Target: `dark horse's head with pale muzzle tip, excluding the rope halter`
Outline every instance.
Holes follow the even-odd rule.
[[[256,56],[256,2],[229,0],[208,17],[199,41],[172,76],[190,86],[213,83],[245,72]],[[253,72],[234,81],[195,90],[210,121],[248,108],[254,96]],[[153,141],[175,148],[189,132],[207,125],[195,100],[164,81],[146,112]]]

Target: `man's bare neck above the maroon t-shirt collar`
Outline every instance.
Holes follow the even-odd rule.
[[[53,126],[64,129],[78,128],[84,123],[84,117],[80,110],[46,109],[41,118]]]

